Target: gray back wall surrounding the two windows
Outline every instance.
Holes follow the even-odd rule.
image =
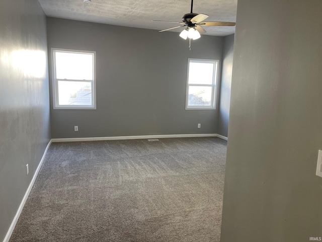
[[[189,50],[178,33],[56,18],[47,33],[49,51],[97,52],[97,110],[53,110],[51,96],[52,138],[217,133],[218,92],[216,110],[185,110],[185,95],[188,58],[219,59],[220,74],[222,37]]]

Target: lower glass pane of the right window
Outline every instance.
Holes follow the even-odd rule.
[[[211,105],[212,87],[189,86],[188,106]]]

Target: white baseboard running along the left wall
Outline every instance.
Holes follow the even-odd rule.
[[[18,208],[18,211],[17,211],[17,213],[16,213],[16,215],[15,215],[15,217],[14,217],[14,219],[13,219],[13,221],[12,221],[12,223],[11,223],[10,227],[9,227],[9,230],[8,230],[8,232],[7,232],[7,234],[6,234],[6,237],[4,238],[4,241],[3,241],[3,242],[8,242],[8,241],[9,241],[9,239],[10,239],[10,237],[11,237],[11,235],[12,235],[12,232],[13,232],[13,231],[14,231],[14,229],[15,229],[15,226],[16,226],[16,224],[17,224],[18,218],[19,218],[19,216],[20,216],[20,214],[21,214],[21,212],[22,212],[22,209],[23,209],[23,208],[24,208],[24,206],[25,206],[25,203],[26,203],[26,201],[27,201],[27,198],[28,198],[28,196],[29,196],[29,194],[30,194],[31,189],[32,189],[32,187],[34,186],[34,183],[35,183],[36,177],[37,177],[37,175],[38,175],[38,173],[39,173],[39,170],[40,170],[40,167],[41,167],[42,163],[43,163],[43,162],[44,162],[44,160],[45,160],[45,156],[46,156],[46,154],[47,154],[47,151],[48,151],[48,148],[49,148],[49,146],[50,146],[51,142],[52,142],[52,141],[50,140],[50,141],[49,141],[49,143],[48,143],[48,145],[47,145],[47,147],[46,147],[46,149],[45,149],[45,152],[44,152],[44,154],[43,154],[43,156],[42,156],[42,158],[41,158],[41,160],[40,160],[40,162],[39,162],[39,165],[38,165],[38,167],[37,167],[37,169],[36,169],[36,171],[35,171],[34,176],[32,177],[32,180],[30,181],[29,187],[28,187],[28,189],[27,189],[27,191],[26,191],[26,193],[25,193],[24,198],[22,199],[22,201],[21,201],[21,203],[20,203],[20,206],[19,206],[19,208]]]

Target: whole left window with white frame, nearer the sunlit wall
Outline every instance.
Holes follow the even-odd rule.
[[[54,109],[96,109],[95,51],[51,49]]]

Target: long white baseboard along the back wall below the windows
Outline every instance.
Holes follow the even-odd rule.
[[[52,142],[138,140],[138,139],[162,139],[162,138],[193,138],[193,137],[218,137],[218,135],[217,134],[183,134],[183,135],[136,135],[136,136],[113,136],[113,137],[90,137],[90,138],[62,138],[62,139],[52,139]]]

